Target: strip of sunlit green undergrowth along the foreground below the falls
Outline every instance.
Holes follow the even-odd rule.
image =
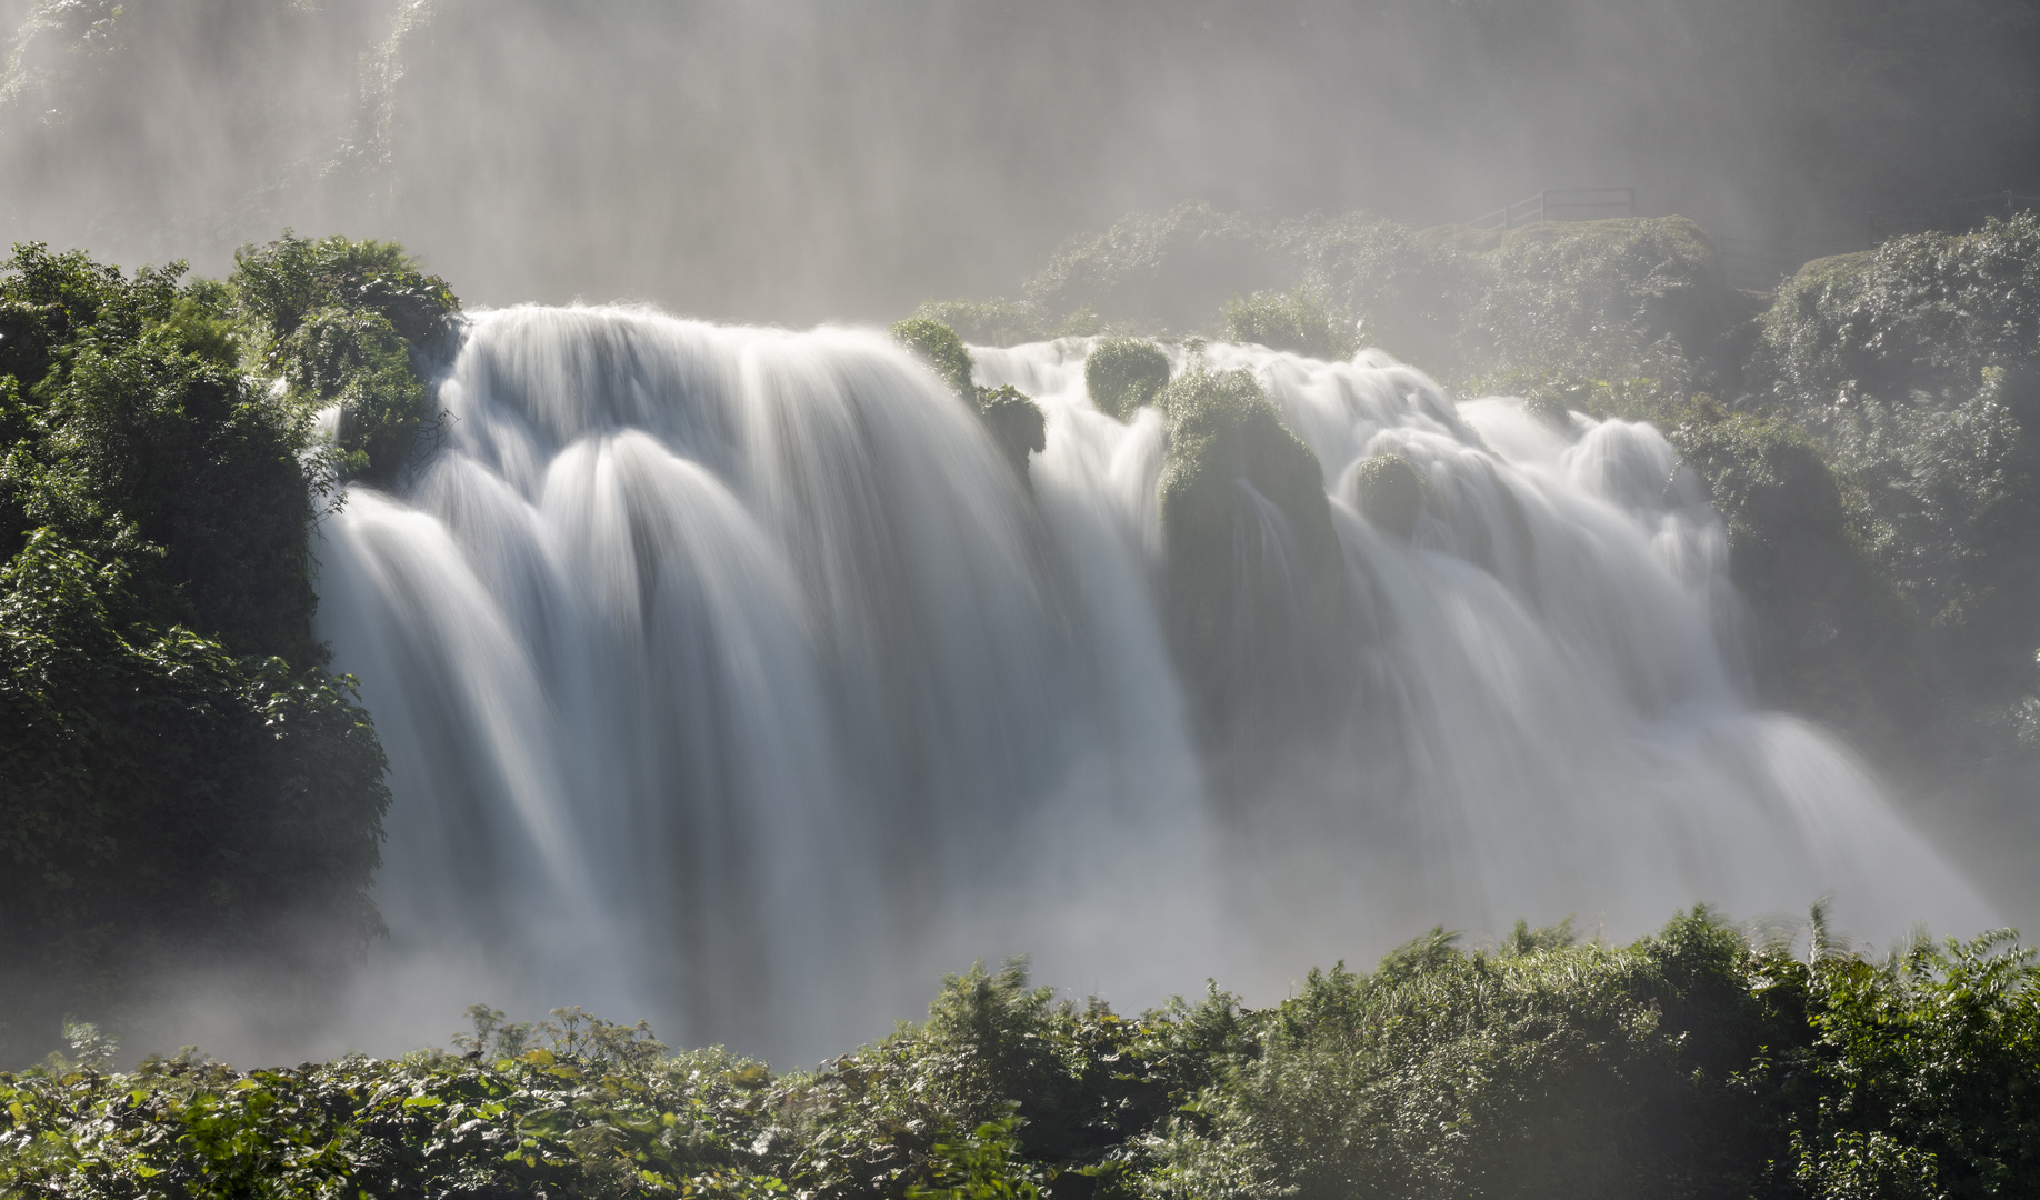
[[[1244,1008],[1008,963],[814,1071],[477,1006],[453,1051],[0,1076],[10,1196],[1820,1198],[2040,1194],[2040,971],[1695,910],[1632,945],[1434,931]],[[463,1053],[465,1051],[465,1053]]]

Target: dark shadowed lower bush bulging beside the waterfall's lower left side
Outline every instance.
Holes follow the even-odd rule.
[[[145,624],[124,565],[39,531],[0,567],[0,1004],[122,1016],[177,955],[379,929],[384,755],[351,680]]]

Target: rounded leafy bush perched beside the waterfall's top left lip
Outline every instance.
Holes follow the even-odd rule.
[[[343,478],[390,480],[432,416],[426,363],[453,331],[459,300],[402,247],[288,229],[235,253],[228,280],[261,331],[261,363],[300,406],[339,404]]]

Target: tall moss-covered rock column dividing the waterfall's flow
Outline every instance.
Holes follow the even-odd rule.
[[[1350,684],[1330,647],[1344,559],[1318,457],[1246,371],[1202,361],[1163,390],[1171,633],[1222,792],[1240,794]]]

